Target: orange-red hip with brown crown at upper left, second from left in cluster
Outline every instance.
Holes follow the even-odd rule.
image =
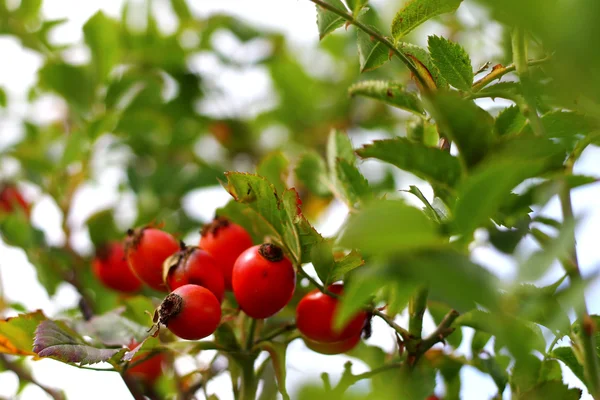
[[[167,291],[163,263],[179,250],[179,243],[167,232],[154,228],[129,230],[125,243],[127,262],[133,272],[152,289]]]

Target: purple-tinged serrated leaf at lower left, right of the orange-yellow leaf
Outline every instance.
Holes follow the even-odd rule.
[[[122,355],[125,349],[103,349],[89,346],[83,338],[63,323],[42,321],[35,330],[33,351],[39,357],[52,357],[66,363],[80,365],[108,361]]]

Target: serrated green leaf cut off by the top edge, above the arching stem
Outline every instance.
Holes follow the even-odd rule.
[[[409,0],[392,21],[392,36],[398,41],[428,19],[456,10],[461,2],[462,0]]]

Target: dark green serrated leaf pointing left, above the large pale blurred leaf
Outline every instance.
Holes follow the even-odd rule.
[[[376,140],[357,151],[363,158],[377,158],[410,172],[431,184],[454,187],[461,178],[456,157],[402,137]]]

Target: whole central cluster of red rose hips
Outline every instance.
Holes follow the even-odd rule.
[[[263,319],[283,309],[296,288],[296,271],[280,247],[253,245],[244,228],[223,217],[204,227],[198,246],[185,246],[152,227],[130,230],[124,245],[106,246],[93,266],[98,278],[115,290],[133,292],[142,282],[155,290],[170,290],[158,309],[160,323],[188,340],[217,329],[226,290],[233,292],[244,313]],[[339,354],[360,341],[365,312],[343,329],[334,329],[342,291],[341,284],[328,287],[335,297],[315,289],[298,304],[296,326],[310,349]]]

